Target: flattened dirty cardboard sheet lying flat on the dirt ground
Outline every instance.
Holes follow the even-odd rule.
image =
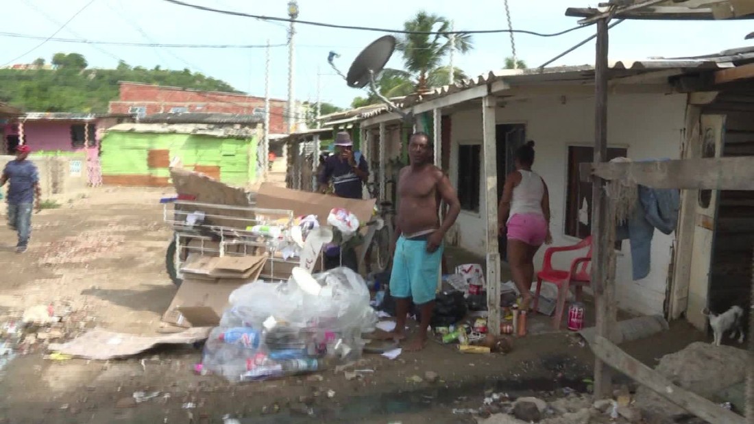
[[[142,337],[95,328],[67,343],[50,343],[48,349],[80,358],[105,361],[144,352],[161,344],[186,344],[207,339],[211,327],[196,327],[176,334]]]

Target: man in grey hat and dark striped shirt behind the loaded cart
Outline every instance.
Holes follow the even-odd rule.
[[[335,194],[348,199],[362,198],[362,185],[369,176],[369,166],[360,151],[354,151],[354,142],[345,131],[335,137],[336,154],[325,160],[320,173],[320,191],[326,193],[330,179]]]

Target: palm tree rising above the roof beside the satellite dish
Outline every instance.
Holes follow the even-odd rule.
[[[385,69],[375,81],[379,92],[388,98],[421,93],[448,84],[450,69],[443,66],[443,62],[451,46],[455,46],[458,53],[467,53],[473,48],[470,34],[447,34],[450,21],[425,11],[419,11],[412,20],[406,21],[403,29],[412,32],[396,35],[396,48],[403,56],[403,69]],[[438,33],[416,33],[433,31]],[[454,82],[467,78],[460,69],[454,71]],[[357,97],[351,105],[359,107],[377,102],[379,98],[370,94],[366,98]]]

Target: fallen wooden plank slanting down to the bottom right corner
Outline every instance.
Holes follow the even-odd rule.
[[[673,404],[688,410],[701,419],[706,419],[710,424],[744,424],[745,422],[743,416],[671,383],[670,380],[642,364],[605,337],[595,336],[590,348],[597,358],[612,368],[626,374],[627,377],[636,380],[643,386],[647,386],[648,389],[657,392],[658,395],[662,395]]]

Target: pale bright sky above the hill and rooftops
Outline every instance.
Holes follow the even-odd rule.
[[[185,2],[247,14],[287,17],[287,0]],[[5,3],[3,14],[6,19],[0,29],[2,32],[49,37],[83,8],[55,37],[161,44],[265,44],[268,40],[271,44],[287,42],[287,23],[199,11],[164,0],[18,0]],[[565,16],[567,7],[587,7],[596,3],[584,0],[509,0],[510,17],[514,29],[559,32],[578,25],[578,18]],[[422,9],[452,19],[456,30],[507,28],[504,0],[299,0],[299,20],[402,29],[403,22]],[[594,30],[591,26],[551,38],[515,35],[517,56],[526,61],[529,67],[540,66],[593,35]],[[610,31],[610,59],[717,53],[754,45],[754,41],[743,39],[752,31],[754,24],[746,21],[625,21]],[[296,25],[296,99],[311,102],[317,100],[318,74],[322,102],[348,107],[355,96],[366,95],[362,90],[348,87],[336,75],[327,63],[327,55],[331,50],[339,53],[341,56],[335,63],[345,73],[360,50],[384,34]],[[481,75],[500,69],[504,66],[505,57],[511,55],[510,36],[507,33],[474,35],[473,41],[474,50],[455,56],[455,65],[467,75]],[[11,63],[31,63],[37,57],[43,57],[49,62],[54,53],[81,53],[90,67],[114,68],[118,60],[122,59],[131,66],[149,69],[157,65],[162,69],[189,68],[222,79],[237,90],[255,96],[264,96],[265,93],[264,48],[124,47],[60,41],[48,41],[36,47],[40,43],[41,40],[0,35],[0,65],[7,64],[29,50],[32,51]],[[272,47],[270,56],[271,96],[286,99],[287,47]],[[594,42],[591,41],[552,66],[593,62]],[[396,53],[388,67],[401,66],[400,54]]]

